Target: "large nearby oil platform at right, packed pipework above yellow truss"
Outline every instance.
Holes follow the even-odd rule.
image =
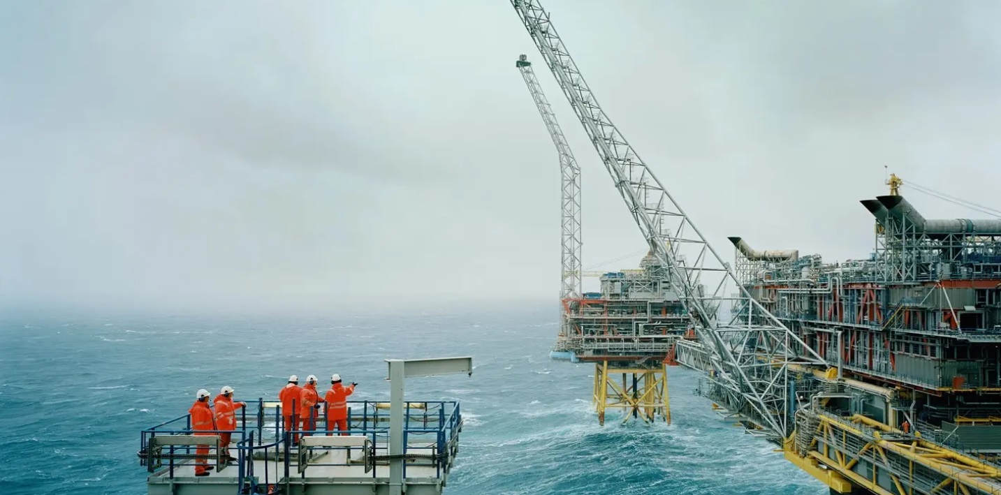
[[[838,493],[1001,493],[1001,212],[926,219],[888,183],[862,201],[867,259],[731,238],[744,286],[833,365],[793,370],[785,456]]]

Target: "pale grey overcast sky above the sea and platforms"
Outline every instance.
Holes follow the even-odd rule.
[[[1001,4],[544,5],[727,256],[739,235],[865,257],[884,166],[1001,208]],[[502,0],[0,0],[0,300],[555,300],[560,173],[521,53]],[[585,267],[644,250],[538,73],[583,169]]]

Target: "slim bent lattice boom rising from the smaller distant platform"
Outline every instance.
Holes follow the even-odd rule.
[[[546,128],[550,131],[553,144],[556,145],[560,153],[560,173],[562,176],[561,190],[563,200],[561,210],[563,219],[561,221],[561,243],[563,245],[561,258],[563,260],[563,285],[560,289],[560,299],[580,298],[581,288],[581,169],[577,166],[577,159],[567,144],[567,137],[564,136],[557,116],[553,113],[550,101],[546,99],[536,71],[532,69],[532,62],[528,57],[522,55],[515,63],[518,70],[525,79],[525,84],[529,87],[529,93],[539,108],[539,114],[543,117]]]

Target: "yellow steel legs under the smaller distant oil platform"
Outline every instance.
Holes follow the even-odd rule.
[[[596,363],[594,402],[603,426],[607,409],[622,409],[624,424],[633,418],[671,424],[668,369],[663,363],[654,367]]]

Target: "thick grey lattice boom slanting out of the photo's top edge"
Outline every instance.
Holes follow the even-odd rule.
[[[773,440],[794,424],[789,365],[826,362],[755,301],[681,206],[612,123],[539,0],[511,0],[540,54],[591,138],[651,252],[668,268],[711,368],[714,399],[749,418]],[[691,260],[691,261],[690,261]],[[705,283],[715,286],[706,291]],[[740,292],[725,296],[733,284]],[[728,323],[718,310],[733,308]],[[799,357],[796,350],[803,351]]]

